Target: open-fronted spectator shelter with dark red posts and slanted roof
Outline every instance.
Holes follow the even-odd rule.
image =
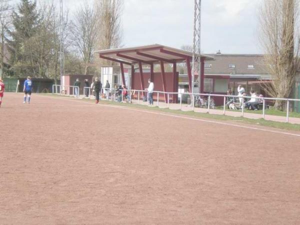
[[[147,78],[154,80],[155,90],[164,92],[177,92],[178,91],[178,72],[176,72],[176,64],[185,62],[188,73],[189,92],[191,92],[192,85],[192,71],[191,61],[192,52],[176,49],[161,44],[145,45],[139,47],[117,48],[95,51],[99,54],[100,58],[118,62],[121,68],[122,84],[125,84],[124,77],[124,64],[131,66],[131,88],[142,89],[146,88]],[[204,83],[204,61],[212,60],[213,57],[201,55],[201,86],[200,92],[203,92]],[[172,72],[166,73],[164,63],[172,64]],[[139,67],[139,73],[134,72],[134,65]],[[146,64],[150,67],[148,74],[143,72],[142,65]],[[153,65],[160,65],[160,73],[154,73]],[[157,79],[159,75],[159,80]],[[155,77],[154,77],[155,76]],[[164,95],[166,101],[167,95]],[[173,102],[176,101],[177,96],[172,96]]]

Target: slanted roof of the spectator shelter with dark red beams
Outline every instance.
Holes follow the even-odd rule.
[[[144,64],[159,63],[160,61],[175,63],[183,62],[186,58],[192,58],[192,52],[185,51],[161,44],[152,44],[138,47],[116,48],[94,51],[101,58],[121,62],[124,64]],[[202,55],[204,60],[213,60],[213,57]]]

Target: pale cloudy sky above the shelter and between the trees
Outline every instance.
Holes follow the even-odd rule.
[[[261,1],[202,0],[201,52],[263,53],[257,38]],[[92,0],[63,0],[63,3],[73,12],[80,4]],[[122,45],[159,43],[176,48],[192,45],[193,10],[194,0],[124,0]]]

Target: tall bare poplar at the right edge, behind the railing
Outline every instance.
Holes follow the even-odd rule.
[[[261,6],[260,41],[271,76],[271,85],[262,87],[272,97],[287,98],[292,92],[300,50],[298,12],[298,0],[263,0]],[[275,108],[283,110],[284,102],[277,100]]]

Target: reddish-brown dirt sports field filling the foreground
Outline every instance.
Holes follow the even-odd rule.
[[[299,133],[3,101],[0,224],[300,224]]]

